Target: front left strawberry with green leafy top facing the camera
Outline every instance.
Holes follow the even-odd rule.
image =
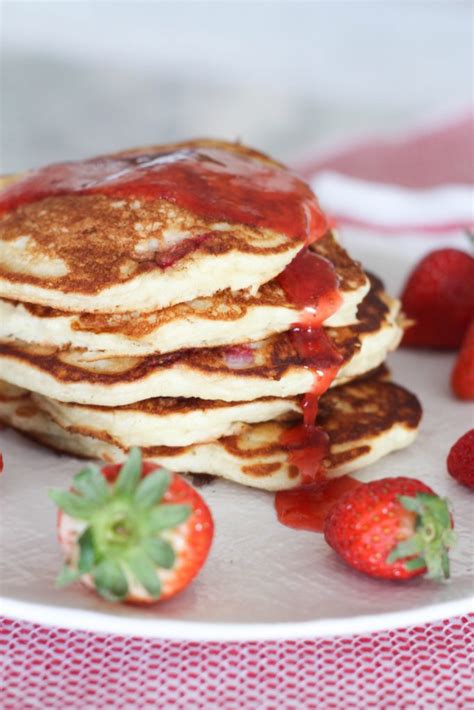
[[[65,566],[57,583],[81,580],[109,601],[151,604],[186,587],[203,566],[211,513],[183,478],[131,449],[123,465],[88,465],[70,491],[53,489]]]

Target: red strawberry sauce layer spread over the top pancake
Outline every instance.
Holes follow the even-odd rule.
[[[307,244],[327,231],[314,194],[296,175],[205,146],[49,165],[2,190],[0,213],[71,194],[164,199],[209,221],[264,227]]]

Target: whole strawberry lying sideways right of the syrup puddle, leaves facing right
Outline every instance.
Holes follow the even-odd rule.
[[[372,577],[449,577],[455,537],[447,502],[413,478],[383,478],[350,491],[331,508],[324,536]]]

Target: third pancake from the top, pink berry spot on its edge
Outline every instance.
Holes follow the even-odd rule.
[[[385,294],[380,282],[373,284],[359,306],[359,322],[327,331],[342,357],[333,386],[376,368],[400,341],[399,302]],[[323,360],[317,365],[322,376],[325,365],[331,364]],[[107,407],[150,397],[225,402],[292,397],[312,390],[319,377],[289,333],[242,346],[144,358],[104,359],[97,353],[0,343],[0,372],[7,382],[53,399]]]

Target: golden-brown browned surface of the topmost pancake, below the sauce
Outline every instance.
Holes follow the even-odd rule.
[[[123,151],[134,156],[153,150],[156,155],[179,148],[214,147],[238,153],[250,161],[280,167],[267,156],[238,143],[189,141]],[[193,239],[210,235],[173,268],[180,268],[196,254],[218,256],[233,250],[254,254],[276,254],[294,248],[304,238],[265,239],[268,230],[242,224],[213,231],[216,220],[206,220],[166,200],[117,199],[106,195],[62,195],[46,197],[18,207],[0,220],[1,239],[29,237],[28,253],[34,258],[61,259],[68,273],[54,278],[54,287],[64,293],[97,294],[107,287],[157,270],[156,255],[169,250],[164,232],[185,232]],[[152,246],[147,243],[152,240]],[[0,266],[0,275],[10,281],[44,285],[44,278]]]

